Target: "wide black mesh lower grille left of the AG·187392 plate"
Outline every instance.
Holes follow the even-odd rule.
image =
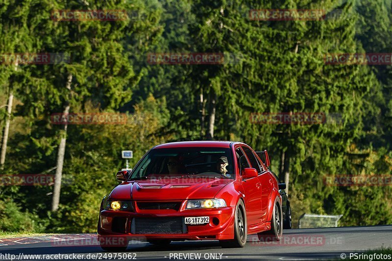
[[[135,217],[131,224],[132,234],[186,234],[187,226],[182,216]]]

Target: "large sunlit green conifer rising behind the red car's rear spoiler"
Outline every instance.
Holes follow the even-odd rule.
[[[246,9],[266,8],[343,12],[321,21],[253,21],[244,16]],[[329,53],[361,50],[354,38],[352,4],[200,0],[193,5],[193,12],[197,23],[191,34],[197,48],[243,57],[238,64],[199,66],[193,71],[197,85],[217,95],[216,138],[234,137],[256,150],[268,148],[272,167],[282,181],[289,190],[293,184],[295,194],[307,191],[305,198],[315,192],[323,174],[345,173],[348,168],[343,156],[348,146],[364,135],[363,118],[371,112],[365,97],[377,91],[368,67],[324,61]],[[250,120],[252,113],[281,112],[319,113],[327,120],[335,113],[342,122],[253,124]],[[322,210],[322,200],[311,208]]]

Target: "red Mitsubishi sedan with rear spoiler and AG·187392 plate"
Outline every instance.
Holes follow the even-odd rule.
[[[273,174],[241,142],[172,142],[155,146],[102,200],[101,247],[122,251],[124,238],[152,244],[217,239],[243,247],[246,236],[282,236],[282,198]],[[117,239],[117,240],[116,240]],[[121,240],[120,240],[121,239]]]

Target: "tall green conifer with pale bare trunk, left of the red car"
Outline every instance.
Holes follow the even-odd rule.
[[[71,62],[54,65],[31,66],[31,75],[22,97],[23,113],[31,118],[51,113],[83,111],[80,104],[92,101],[98,108],[116,109],[131,98],[132,86],[140,79],[129,62],[135,50],[127,43],[138,39],[138,50],[147,49],[153,37],[159,13],[155,12],[143,21],[119,19],[115,21],[57,21],[51,19],[56,10],[124,10],[144,11],[142,2],[48,2],[40,1],[30,6],[39,17],[31,19],[31,28],[41,34],[36,48],[41,52],[61,53],[71,56]],[[37,10],[40,10],[39,12]],[[74,109],[73,109],[74,108]],[[52,128],[49,125],[47,128]],[[67,128],[57,126],[56,137],[60,140],[57,152],[56,175],[52,211],[58,209],[62,166],[67,156],[65,147]],[[53,142],[58,142],[53,140]]]

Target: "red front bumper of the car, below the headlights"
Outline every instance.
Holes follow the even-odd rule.
[[[124,237],[129,240],[136,239],[170,239],[174,240],[202,240],[202,239],[233,239],[234,238],[234,207],[217,209],[186,210],[184,203],[180,210],[140,210],[134,212],[102,210],[99,214],[99,237]],[[165,220],[179,219],[180,217],[209,216],[210,222],[201,225],[185,225],[182,221],[181,233],[142,234],[135,231],[135,218],[164,218]],[[182,218],[183,220],[184,218]],[[219,221],[219,222],[217,222]]]

